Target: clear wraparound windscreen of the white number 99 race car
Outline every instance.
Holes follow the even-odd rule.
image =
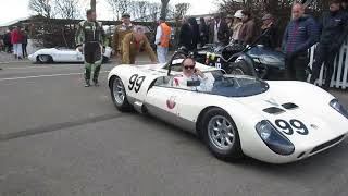
[[[203,82],[198,91],[225,97],[247,97],[262,94],[269,85],[258,78],[243,75],[222,75],[216,72],[206,73],[208,79]]]

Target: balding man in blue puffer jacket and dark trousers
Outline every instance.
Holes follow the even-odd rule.
[[[318,25],[313,17],[304,15],[304,7],[293,7],[293,20],[287,25],[282,48],[285,52],[285,77],[288,81],[306,81],[309,63],[308,49],[318,41]]]

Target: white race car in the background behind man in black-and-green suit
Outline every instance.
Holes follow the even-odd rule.
[[[107,63],[112,54],[112,48],[107,47],[102,54],[102,63]],[[84,62],[82,52],[74,49],[45,48],[28,56],[28,59],[38,63],[50,62]]]

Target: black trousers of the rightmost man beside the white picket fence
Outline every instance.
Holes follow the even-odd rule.
[[[331,51],[330,46],[319,44],[315,53],[314,53],[314,63],[312,66],[312,76],[311,83],[314,84],[315,81],[319,78],[320,70],[322,69],[322,64],[324,63],[325,69],[325,84],[324,88],[330,87],[331,78],[333,77],[334,73],[334,61],[338,50]]]

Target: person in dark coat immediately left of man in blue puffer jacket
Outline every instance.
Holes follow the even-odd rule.
[[[262,17],[262,26],[261,26],[261,34],[263,35],[259,44],[263,45],[268,48],[275,49],[277,47],[278,40],[278,29],[274,24],[274,17],[272,14],[264,14]]]

